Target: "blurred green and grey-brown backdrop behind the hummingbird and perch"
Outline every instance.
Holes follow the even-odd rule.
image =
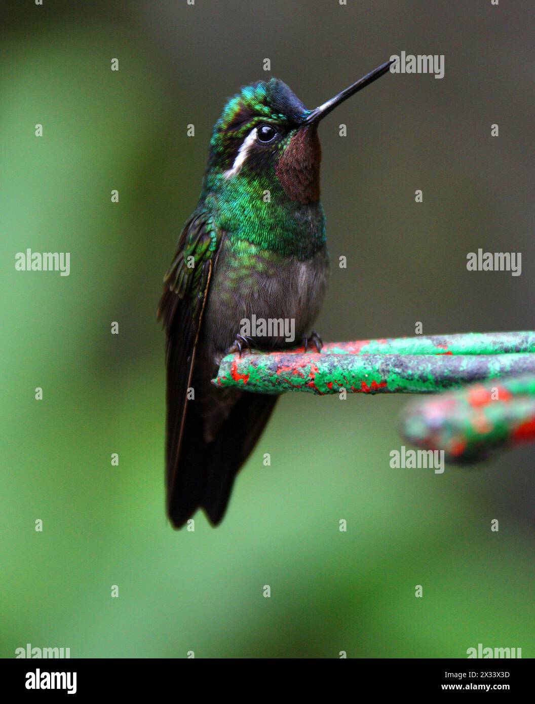
[[[198,514],[194,533],[174,532],[156,306],[227,96],[271,75],[270,58],[313,107],[404,50],[443,54],[445,77],[387,75],[322,123],[329,246],[348,268],[334,266],[317,329],[324,340],[410,335],[417,321],[424,334],[533,329],[534,7],[10,5],[0,654],[32,643],[73,658],[462,658],[483,643],[530,657],[533,448],[443,475],[391,470],[405,398],[288,394],[222,525]],[[27,247],[70,251],[70,276],[16,272]],[[521,251],[522,276],[467,272],[478,247]]]

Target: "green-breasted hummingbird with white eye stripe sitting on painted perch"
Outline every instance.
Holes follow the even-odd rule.
[[[277,395],[218,389],[229,353],[294,346],[280,329],[241,334],[241,322],[291,320],[305,349],[329,272],[320,202],[320,120],[384,75],[392,61],[308,110],[272,77],[227,101],[210,139],[201,196],[164,277],[167,513],[182,527],[202,508],[222,520],[234,477]]]

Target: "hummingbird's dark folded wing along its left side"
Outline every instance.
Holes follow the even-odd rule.
[[[164,289],[158,307],[158,320],[163,320],[167,335],[165,363],[167,367],[167,440],[165,451],[168,513],[175,494],[179,472],[180,448],[187,413],[187,389],[195,363],[196,347],[208,296],[210,277],[221,236],[207,210],[196,210],[180,235],[175,257],[164,278]],[[180,479],[180,478],[179,478]],[[191,497],[201,491],[201,477],[192,473],[182,477],[183,493]],[[199,483],[199,486],[197,486]],[[177,517],[170,516],[175,524]]]

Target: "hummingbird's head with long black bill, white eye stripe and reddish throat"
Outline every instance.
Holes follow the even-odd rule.
[[[307,110],[277,78],[241,89],[223,109],[210,140],[204,191],[214,193],[282,187],[289,201],[320,198],[320,141],[317,125],[337,105],[389,70],[379,66],[315,110]]]

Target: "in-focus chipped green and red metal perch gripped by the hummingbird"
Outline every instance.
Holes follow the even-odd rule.
[[[535,375],[535,332],[468,333],[229,355],[213,383],[260,394],[430,394],[527,373]]]

